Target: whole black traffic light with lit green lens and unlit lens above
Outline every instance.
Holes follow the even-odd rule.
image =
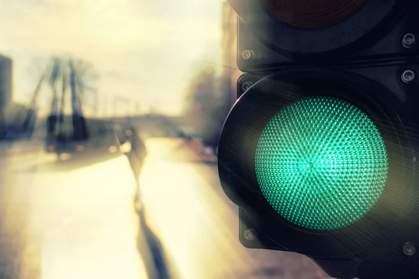
[[[247,248],[335,278],[419,278],[419,1],[230,0],[221,186]]]

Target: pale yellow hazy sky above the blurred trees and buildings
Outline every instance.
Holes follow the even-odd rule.
[[[191,68],[221,59],[222,0],[0,0],[0,54],[13,59],[13,98],[27,102],[52,55],[93,63],[99,113],[179,114]],[[41,91],[43,100],[50,98]],[[40,98],[41,98],[40,96]]]

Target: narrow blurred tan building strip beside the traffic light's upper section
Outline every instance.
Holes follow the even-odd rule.
[[[222,55],[223,55],[223,77],[226,78],[226,86],[230,94],[231,105],[237,100],[237,79],[242,72],[237,68],[237,14],[230,5],[223,2],[223,37],[222,37]]]

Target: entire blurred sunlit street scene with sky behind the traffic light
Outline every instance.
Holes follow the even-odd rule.
[[[324,278],[239,242],[216,167],[241,74],[225,1],[0,7],[1,279]]]

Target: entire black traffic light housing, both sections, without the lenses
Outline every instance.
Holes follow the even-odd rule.
[[[242,245],[299,252],[341,279],[419,278],[419,252],[402,250],[406,242],[419,246],[419,1],[368,0],[344,22],[317,30],[281,24],[258,0],[228,2],[238,14],[237,66],[246,74],[221,133],[219,176],[239,206]],[[406,46],[408,33],[416,42]],[[245,50],[251,59],[244,59]],[[416,74],[413,82],[402,81],[405,70]],[[244,90],[244,82],[253,86]],[[267,121],[287,103],[316,94],[360,107],[389,153],[388,183],[376,206],[334,232],[309,231],[278,216],[254,167]],[[244,237],[247,229],[255,229],[256,239]]]

